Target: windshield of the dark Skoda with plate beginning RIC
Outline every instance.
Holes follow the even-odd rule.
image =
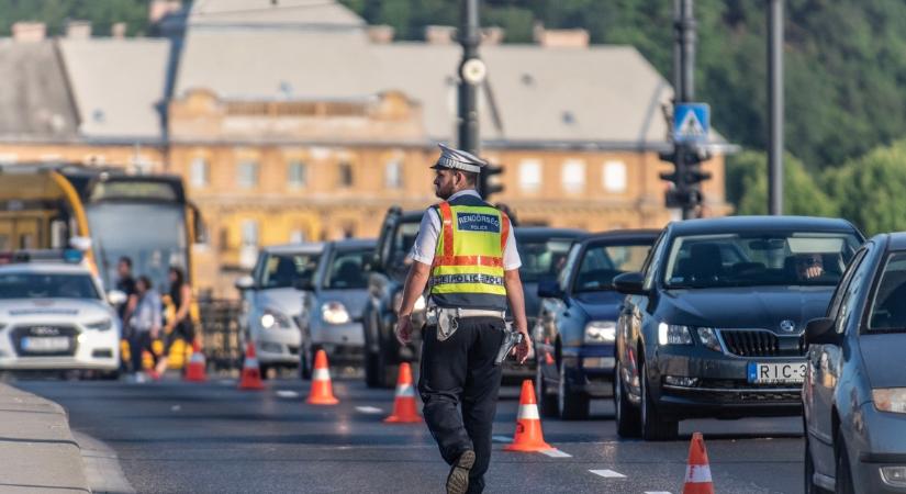
[[[843,233],[762,232],[676,237],[667,288],[836,285],[859,246]]]

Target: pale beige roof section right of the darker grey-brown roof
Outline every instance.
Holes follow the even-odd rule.
[[[59,50],[81,135],[127,142],[163,139],[169,41],[60,40]]]

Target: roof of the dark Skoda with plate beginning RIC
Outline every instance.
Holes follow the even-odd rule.
[[[861,237],[861,233],[846,220],[814,216],[725,216],[675,222],[668,228],[678,235],[803,231],[851,232]]]

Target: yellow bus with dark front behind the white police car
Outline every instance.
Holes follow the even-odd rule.
[[[167,270],[192,282],[192,244],[201,215],[171,175],[128,175],[118,168],[18,164],[0,167],[0,251],[79,248],[105,290],[121,257],[133,273],[166,291]],[[184,349],[175,345],[174,367]]]

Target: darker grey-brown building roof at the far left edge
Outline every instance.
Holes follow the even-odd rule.
[[[0,40],[0,135],[14,141],[65,141],[78,116],[52,41]]]

